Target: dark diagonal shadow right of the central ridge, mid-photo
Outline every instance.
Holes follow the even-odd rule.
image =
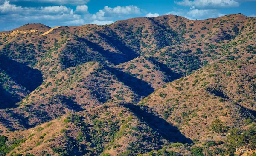
[[[131,87],[132,90],[137,92],[140,97],[148,96],[154,92],[154,88],[152,88],[150,84],[144,82],[141,79],[138,79],[137,77],[133,77],[130,74],[108,66],[105,66],[105,68],[113,75],[116,75],[119,81],[123,82],[124,85]]]

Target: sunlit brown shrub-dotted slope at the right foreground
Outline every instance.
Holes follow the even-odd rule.
[[[238,60],[205,66],[164,85],[139,105],[160,114],[185,136],[207,140],[217,136],[211,130],[215,119],[230,128],[245,127],[246,119],[255,121],[255,67]]]

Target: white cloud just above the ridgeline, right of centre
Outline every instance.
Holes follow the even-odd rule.
[[[215,18],[215,17],[220,17],[225,15],[225,14],[221,14],[217,9],[202,9],[202,10],[192,9],[189,11],[180,9],[178,11],[171,11],[166,14],[178,15],[191,20],[195,20],[195,19],[204,20],[207,18]]]

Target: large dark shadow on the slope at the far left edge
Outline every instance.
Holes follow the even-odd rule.
[[[30,68],[3,55],[0,55],[0,69],[29,91],[34,91],[43,83],[41,71]]]

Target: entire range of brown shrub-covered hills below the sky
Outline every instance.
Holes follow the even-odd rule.
[[[0,32],[0,156],[256,149],[256,18]]]

